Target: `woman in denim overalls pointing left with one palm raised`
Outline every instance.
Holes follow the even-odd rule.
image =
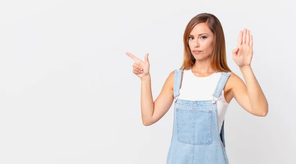
[[[170,73],[153,102],[148,54],[135,60],[133,73],[142,81],[141,111],[144,125],[161,119],[175,102],[174,127],[167,164],[228,164],[224,116],[232,98],[252,115],[268,113],[267,100],[251,68],[253,36],[240,31],[232,58],[246,84],[226,63],[222,25],[212,14],[196,15],[184,33],[184,61]]]

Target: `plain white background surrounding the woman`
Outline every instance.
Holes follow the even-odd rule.
[[[296,12],[292,0],[1,0],[0,164],[165,164],[173,105],[141,120],[134,61],[149,53],[155,100],[183,60],[195,15],[222,23],[230,69],[238,34],[254,36],[253,71],[266,117],[233,99],[225,117],[230,164],[295,164]]]

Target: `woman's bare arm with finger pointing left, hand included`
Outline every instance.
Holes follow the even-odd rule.
[[[133,64],[133,73],[141,79],[141,115],[142,122],[148,126],[160,120],[170,109],[174,101],[174,71],[170,73],[165,81],[162,90],[156,100],[153,102],[151,92],[151,77],[149,74],[148,55],[145,55],[145,62],[133,54],[126,54],[135,60]]]

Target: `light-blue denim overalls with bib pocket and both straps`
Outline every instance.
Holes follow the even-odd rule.
[[[218,126],[217,101],[231,72],[223,72],[212,100],[178,99],[183,70],[175,70],[174,125],[167,164],[229,164],[224,141],[224,121]],[[222,142],[221,142],[222,141]]]

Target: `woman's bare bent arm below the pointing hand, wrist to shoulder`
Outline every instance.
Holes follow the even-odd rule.
[[[141,79],[141,113],[142,122],[148,126],[159,121],[170,109],[174,101],[174,71],[166,79],[162,90],[153,102],[151,77]]]

